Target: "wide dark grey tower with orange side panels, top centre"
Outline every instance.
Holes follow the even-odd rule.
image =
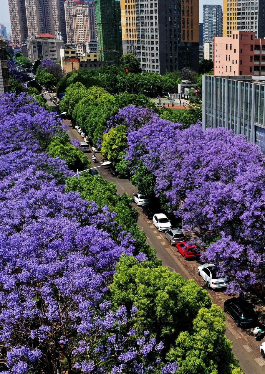
[[[137,56],[143,71],[198,70],[198,0],[121,0],[121,26],[123,53]]]

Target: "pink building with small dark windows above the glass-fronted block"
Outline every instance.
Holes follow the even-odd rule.
[[[215,76],[265,76],[265,39],[255,39],[255,33],[233,31],[232,37],[215,37],[213,55]]]

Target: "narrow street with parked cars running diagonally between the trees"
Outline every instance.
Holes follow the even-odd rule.
[[[68,124],[68,134],[71,139],[83,140],[83,138],[81,138],[77,133],[76,129],[70,126],[68,120],[65,120],[64,122]],[[85,154],[89,160],[92,161],[92,153],[89,152]],[[100,153],[97,154],[97,159],[101,159]],[[100,163],[92,163],[92,166],[99,165]],[[133,186],[129,180],[113,177],[107,166],[98,168],[98,171],[107,181],[115,183],[117,193],[123,194],[126,192],[128,195],[132,196],[133,193],[137,192],[136,187]],[[178,272],[186,279],[195,279],[200,286],[207,289],[206,283],[197,274],[197,267],[200,264],[200,261],[185,261],[184,258],[176,252],[176,247],[171,246],[167,239],[165,239],[164,234],[159,233],[157,229],[155,229],[152,225],[152,221],[148,220],[141,212],[141,208],[137,207],[135,203],[133,203],[133,205],[140,213],[138,226],[146,234],[147,242],[156,249],[157,257],[161,259],[163,266],[166,266],[172,272]],[[213,302],[223,309],[224,300],[228,298],[224,291],[210,290],[209,294],[212,297]],[[259,303],[258,297],[255,299],[255,302]],[[227,315],[226,324],[226,335],[233,343],[233,353],[239,360],[243,372],[245,374],[264,374],[265,360],[261,357],[261,353],[259,352],[261,342],[255,341],[252,333],[253,328],[246,330],[237,328],[229,315]]]

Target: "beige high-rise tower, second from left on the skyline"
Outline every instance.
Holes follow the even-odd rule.
[[[66,39],[63,0],[24,0],[28,35],[61,33]]]

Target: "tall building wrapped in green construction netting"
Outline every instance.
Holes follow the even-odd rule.
[[[122,56],[120,0],[95,0],[95,3],[99,60],[118,64]]]

